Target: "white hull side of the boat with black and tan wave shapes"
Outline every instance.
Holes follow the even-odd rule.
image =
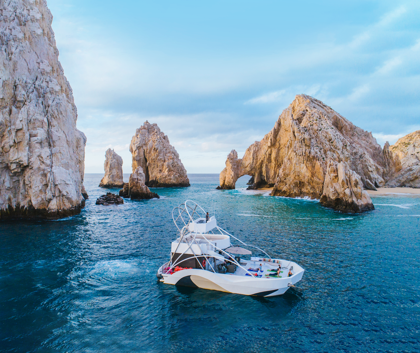
[[[169,285],[178,285],[220,292],[255,295],[259,297],[273,297],[282,295],[291,285],[302,279],[304,270],[286,278],[255,278],[220,274],[202,269],[184,269],[173,274],[162,274],[161,282]]]

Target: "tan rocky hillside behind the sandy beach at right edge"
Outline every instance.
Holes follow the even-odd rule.
[[[395,156],[397,169],[386,186],[420,188],[420,130],[401,137],[389,150]]]

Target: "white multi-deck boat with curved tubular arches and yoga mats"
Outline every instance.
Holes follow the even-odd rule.
[[[205,215],[191,200],[172,210],[177,238],[171,243],[171,259],[157,271],[160,282],[271,297],[302,279],[304,269],[297,263],[271,258],[218,227],[215,216],[206,221]],[[232,245],[231,240],[241,246]],[[252,252],[243,247],[255,248],[267,257],[244,260],[241,256]]]

